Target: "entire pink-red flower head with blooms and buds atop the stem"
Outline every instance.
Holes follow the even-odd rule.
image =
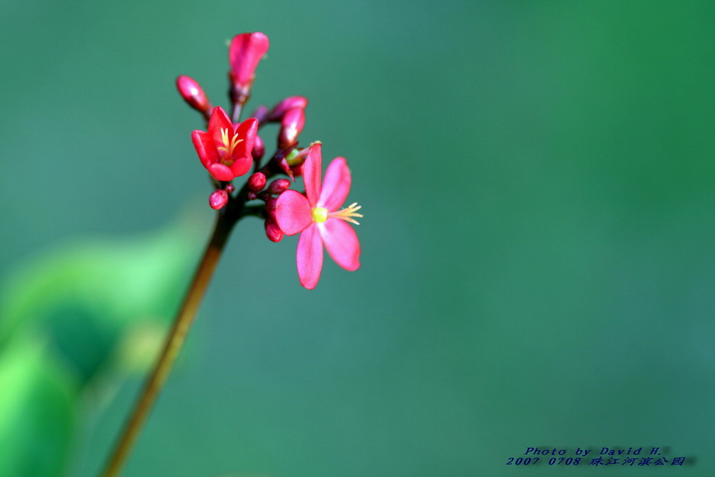
[[[331,162],[321,188],[320,142],[300,147],[306,97],[287,97],[272,109],[261,105],[251,117],[240,121],[242,109],[250,99],[255,70],[268,46],[268,38],[262,33],[245,33],[232,39],[230,114],[222,107],[212,107],[194,79],[179,76],[176,84],[184,101],[206,120],[206,130],[192,132],[192,142],[214,184],[209,206],[233,221],[248,215],[262,218],[266,237],[272,242],[300,232],[298,276],[303,286],[312,288],[320,278],[323,246],[346,270],[360,266],[360,244],[347,222],[357,224],[353,217],[362,215],[356,213],[360,209],[357,204],[340,209],[350,191],[350,171],[345,159]],[[268,123],[278,123],[280,129],[275,152],[263,162],[266,147],[259,131]],[[245,185],[236,190],[232,181],[249,173]],[[285,174],[288,179],[274,178],[278,174]],[[296,177],[301,176],[305,192],[291,190]],[[254,201],[263,204],[251,205]]]

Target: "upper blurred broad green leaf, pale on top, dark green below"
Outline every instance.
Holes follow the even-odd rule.
[[[150,237],[87,241],[36,258],[5,287],[0,345],[27,329],[42,330],[87,383],[111,362],[125,335],[147,322],[161,328],[172,317],[197,260],[196,238],[170,227]],[[136,358],[122,348],[121,356],[136,368]]]

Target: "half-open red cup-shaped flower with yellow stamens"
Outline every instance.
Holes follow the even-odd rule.
[[[215,180],[229,181],[251,168],[257,131],[255,118],[234,125],[223,109],[215,107],[209,119],[209,131],[194,131],[191,140],[209,174]]]

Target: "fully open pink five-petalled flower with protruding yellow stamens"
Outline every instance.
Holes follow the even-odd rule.
[[[323,245],[337,265],[351,272],[358,270],[360,242],[347,222],[357,225],[352,217],[363,216],[357,213],[357,202],[338,210],[350,192],[350,169],[345,158],[336,157],[330,162],[322,187],[320,142],[311,144],[303,167],[307,197],[295,190],[283,192],[276,203],[275,217],[286,235],[302,232],[296,254],[298,277],[301,285],[312,290],[320,280]]]

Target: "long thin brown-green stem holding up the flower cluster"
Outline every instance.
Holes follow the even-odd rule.
[[[184,344],[189,327],[204,297],[204,292],[206,292],[206,288],[211,281],[226,240],[237,221],[233,217],[224,213],[219,213],[218,215],[213,234],[206,246],[204,256],[199,262],[194,280],[184,297],[184,303],[182,303],[176,318],[174,318],[174,325],[172,325],[172,329],[169,330],[169,334],[164,341],[164,348],[157,363],[154,365],[152,375],[149,376],[147,383],[144,384],[142,394],[134,405],[132,415],[129,416],[122,436],[117,441],[114,452],[107,463],[107,467],[104,469],[102,474],[104,477],[119,476],[119,471],[122,470],[124,461],[126,461],[129,451],[132,450],[134,441],[136,441],[139,431],[144,421],[146,421],[147,415],[149,415],[149,410],[152,409],[154,400],[156,400],[159,391],[167,380],[169,371],[172,369],[174,360],[176,360]]]

